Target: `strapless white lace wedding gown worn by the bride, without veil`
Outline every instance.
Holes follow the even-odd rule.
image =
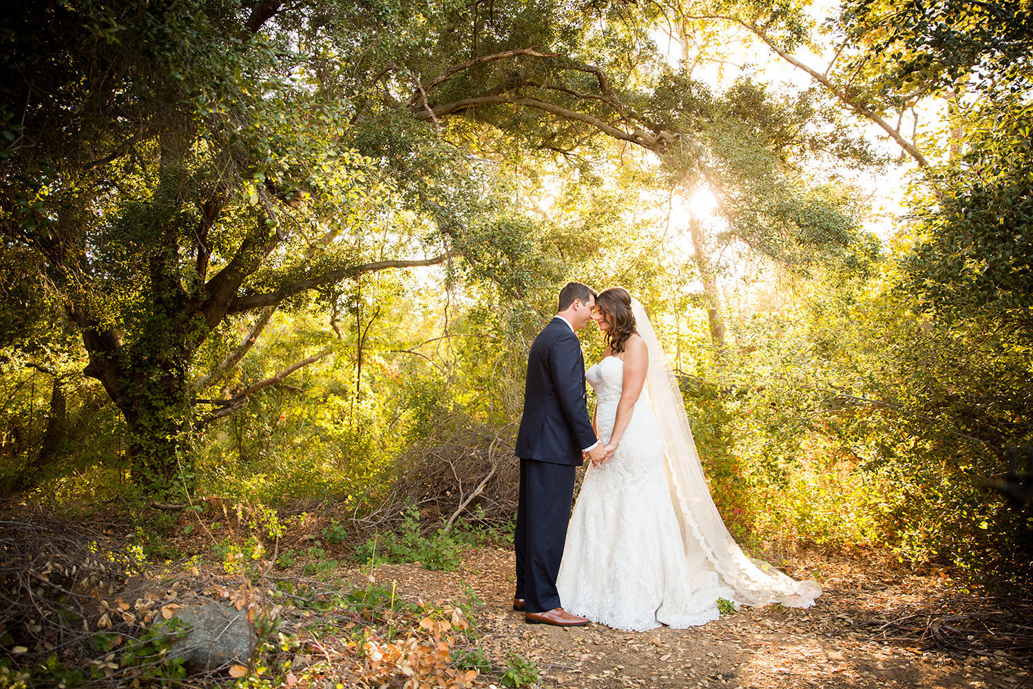
[[[607,356],[586,373],[598,399],[599,437],[609,438],[624,363]],[[689,570],[663,470],[656,416],[639,398],[621,444],[582,483],[556,587],[563,609],[618,629],[690,627],[731,600],[713,568]]]

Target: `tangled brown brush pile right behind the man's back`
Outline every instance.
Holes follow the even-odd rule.
[[[481,526],[507,525],[516,514],[520,482],[515,433],[512,424],[491,428],[442,417],[424,447],[399,460],[387,498],[359,520],[364,535],[398,526],[410,505],[428,530],[442,523],[451,528],[461,516]]]

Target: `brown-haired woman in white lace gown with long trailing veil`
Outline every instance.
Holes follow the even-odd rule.
[[[710,497],[677,379],[641,305],[623,287],[596,297],[608,345],[587,372],[595,425],[613,456],[588,469],[557,589],[564,609],[618,629],[684,628],[717,600],[808,607],[821,595],[748,558]]]

